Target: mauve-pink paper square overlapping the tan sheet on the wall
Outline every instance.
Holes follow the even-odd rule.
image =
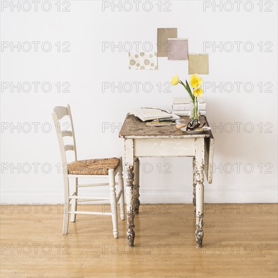
[[[168,38],[168,60],[188,60],[188,39]]]

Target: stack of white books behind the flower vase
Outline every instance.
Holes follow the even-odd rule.
[[[173,98],[172,113],[178,116],[190,116],[190,97]],[[199,112],[201,116],[206,115],[206,103],[202,98],[198,98]]]

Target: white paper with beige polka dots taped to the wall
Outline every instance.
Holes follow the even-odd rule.
[[[129,52],[128,68],[157,70],[157,52]]]

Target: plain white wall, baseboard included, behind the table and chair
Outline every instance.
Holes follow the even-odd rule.
[[[58,12],[57,1],[51,3],[49,12],[42,11],[41,4],[38,4],[37,12],[34,5],[28,12],[18,12],[17,8],[11,11],[11,6],[5,8],[7,3],[2,2],[2,42],[41,43],[37,52],[34,51],[34,44],[29,52],[17,52],[17,49],[12,52],[11,48],[2,48],[1,82],[52,84],[50,92],[43,92],[40,86],[37,92],[34,87],[30,92],[11,92],[10,88],[3,88],[7,83],[2,83],[2,203],[63,202],[62,175],[55,166],[60,163],[55,130],[53,127],[50,132],[41,129],[43,123],[52,124],[54,106],[71,105],[78,158],[85,159],[124,156],[123,140],[118,138],[119,128],[103,130],[103,123],[119,126],[131,108],[157,106],[170,109],[172,97],[186,96],[187,92],[181,86],[171,87],[171,92],[159,92],[156,84],[162,82],[163,85],[176,73],[182,79],[189,78],[187,61],[159,58],[157,71],[133,71],[128,70],[127,53],[123,49],[115,49],[114,52],[111,48],[102,50],[103,41],[114,41],[115,44],[140,41],[141,45],[151,41],[155,47],[159,27],[177,27],[178,37],[189,38],[190,53],[203,53],[205,41],[207,45],[227,41],[234,45],[231,52],[227,51],[229,43],[222,51],[212,47],[205,50],[209,53],[209,75],[202,76],[204,81],[210,82],[208,85],[219,85],[220,82],[234,85],[231,92],[227,91],[230,87],[226,83],[222,92],[211,87],[204,94],[207,117],[212,123],[215,138],[215,166],[222,165],[221,170],[215,168],[213,183],[205,182],[205,202],[277,201],[277,2],[268,1],[262,7],[253,2],[250,12],[246,10],[252,8],[251,4],[241,4],[238,12],[235,3],[230,12],[225,11],[230,9],[228,4],[222,12],[219,8],[215,8],[214,12],[213,5],[219,4],[219,1],[162,1],[162,9],[168,6],[167,3],[171,4],[168,8],[170,12],[159,12],[158,1],[152,2],[150,12],[144,11],[142,4],[139,4],[138,12],[135,11],[135,4],[130,12],[119,12],[117,8],[113,12],[111,7],[103,12],[101,1],[71,1],[70,12]],[[271,8],[268,8],[269,3]],[[61,9],[66,4],[61,2]],[[23,8],[27,10],[28,4],[25,5]],[[43,8],[48,9],[48,5],[44,5]],[[124,8],[128,9],[128,4],[125,5]],[[203,5],[208,7],[206,11]],[[146,4],[145,9],[148,8]],[[41,50],[40,45],[44,41],[52,44],[50,52]],[[70,52],[58,52],[55,45],[58,41],[69,41]],[[235,41],[242,42],[238,44],[239,51]],[[247,41],[253,44],[253,51],[244,49]],[[260,42],[262,52],[258,45]],[[249,49],[251,44],[245,44],[245,47]],[[271,44],[272,52],[265,52]],[[135,44],[132,45],[135,51]],[[25,44],[26,49],[27,46]],[[57,92],[57,82],[69,82],[70,92]],[[151,82],[153,89],[145,92],[141,84],[139,92],[135,91],[135,86],[131,92],[119,92],[117,89],[115,92],[111,89],[102,92],[102,82]],[[239,91],[235,82],[243,82]],[[246,82],[253,84],[251,92],[246,91],[249,86],[244,88]],[[263,84],[263,92],[259,90],[259,82]],[[265,91],[268,87],[266,82],[271,84],[270,92]],[[162,86],[163,89],[166,86]],[[39,123],[37,132],[32,124],[34,122]],[[238,122],[242,124],[236,124]],[[28,125],[23,123],[30,123],[32,128],[29,132],[11,130],[11,125],[17,123],[25,129]],[[5,129],[7,125],[10,127]],[[219,125],[222,125],[221,129],[215,128]],[[253,131],[248,132],[252,126]],[[231,127],[233,131],[228,132]],[[271,133],[266,133],[268,127]],[[44,124],[44,128],[47,129],[48,124]],[[191,158],[142,159],[141,162],[142,203],[192,201]],[[12,173],[11,167],[18,163],[25,168],[20,169],[20,173],[14,169]],[[39,163],[37,172],[32,163]],[[43,172],[43,163],[51,165],[50,173]],[[162,173],[156,166],[159,163],[162,164]],[[167,169],[164,164],[171,166],[171,173],[163,173]],[[28,171],[28,165],[32,166],[30,172],[24,173]],[[153,170],[147,173],[150,165]],[[248,173],[251,167],[253,172]],[[44,170],[48,170],[47,164]],[[100,191],[96,193],[101,194]]]

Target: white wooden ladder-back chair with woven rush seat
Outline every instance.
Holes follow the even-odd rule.
[[[70,106],[66,107],[57,106],[53,109],[53,120],[56,127],[58,142],[62,157],[63,176],[65,186],[65,209],[64,209],[64,222],[63,234],[68,233],[69,214],[71,214],[71,222],[75,222],[76,214],[94,214],[94,215],[112,215],[113,222],[113,235],[118,238],[118,218],[117,218],[117,203],[120,206],[120,216],[124,220],[124,189],[123,189],[123,175],[122,175],[122,158],[105,158],[105,159],[90,159],[90,160],[77,160],[75,136],[72,123],[72,116]],[[61,130],[60,120],[65,116],[68,117],[71,125],[71,131]],[[72,145],[65,145],[65,136],[71,136],[73,140]],[[75,161],[67,163],[66,152],[74,151]],[[118,182],[115,182],[115,176],[118,174]],[[75,192],[69,195],[69,178],[75,179]],[[78,184],[78,178],[108,178],[108,183],[95,183],[95,184]],[[119,185],[119,193],[116,196],[115,185]],[[107,197],[82,197],[78,195],[78,188],[80,187],[98,187],[109,186],[110,198]],[[110,200],[111,212],[94,212],[94,211],[77,211],[78,202]],[[72,201],[71,210],[69,210],[69,203]]]

